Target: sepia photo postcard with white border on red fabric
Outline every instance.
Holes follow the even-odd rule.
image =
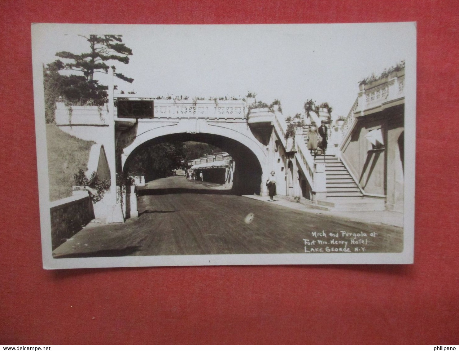
[[[43,264],[409,264],[416,23],[32,24]]]

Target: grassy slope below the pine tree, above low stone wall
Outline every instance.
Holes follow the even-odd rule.
[[[50,201],[72,196],[73,175],[80,168],[87,170],[89,153],[94,142],[75,138],[56,127],[46,125]]]

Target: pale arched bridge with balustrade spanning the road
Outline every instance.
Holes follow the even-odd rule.
[[[241,194],[266,192],[262,179],[269,173],[268,143],[271,119],[248,123],[242,100],[154,100],[115,98],[118,171],[129,170],[137,151],[152,144],[205,142],[228,152],[235,160],[233,190]]]

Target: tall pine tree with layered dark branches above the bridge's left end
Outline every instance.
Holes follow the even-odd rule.
[[[122,40],[121,35],[80,35],[89,42],[90,49],[88,52],[74,54],[68,51],[59,51],[56,53],[60,59],[47,65],[49,73],[57,73],[60,70],[77,71],[80,74],[60,75],[56,79],[59,83],[59,96],[72,105],[103,105],[107,102],[106,85],[100,85],[99,81],[94,79],[96,73],[108,73],[110,66],[109,61],[118,61],[129,63],[129,56],[132,50],[129,49]],[[113,71],[115,66],[111,66]],[[115,72],[119,79],[132,83],[134,79],[128,78],[121,73]],[[49,118],[48,118],[49,119]]]

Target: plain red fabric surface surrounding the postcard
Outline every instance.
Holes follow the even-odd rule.
[[[0,344],[458,344],[458,3],[0,4]],[[415,263],[45,271],[30,24],[418,22]]]

